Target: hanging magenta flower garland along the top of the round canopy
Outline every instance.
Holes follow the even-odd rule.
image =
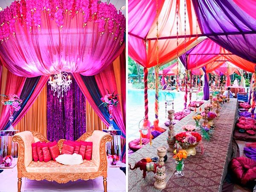
[[[66,14],[75,17],[83,15],[83,26],[87,22],[98,23],[100,33],[106,29],[114,39],[120,37],[120,43],[124,41],[125,16],[117,11],[113,4],[98,3],[98,0],[20,0],[14,1],[10,7],[0,12],[0,41],[8,40],[9,35],[15,35],[15,23],[32,29],[41,29],[41,14],[47,13],[51,20],[55,19],[58,27],[64,25]]]

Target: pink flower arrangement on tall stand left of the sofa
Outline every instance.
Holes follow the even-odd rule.
[[[14,111],[20,110],[20,104],[22,103],[22,100],[20,99],[19,96],[15,95],[15,94],[11,94],[8,96],[2,95],[2,96],[4,96],[1,101],[2,104],[9,105],[11,113],[13,113]]]

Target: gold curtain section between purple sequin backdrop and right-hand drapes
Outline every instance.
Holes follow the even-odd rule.
[[[86,131],[106,129],[106,125],[99,116],[93,111],[89,102],[86,100]]]

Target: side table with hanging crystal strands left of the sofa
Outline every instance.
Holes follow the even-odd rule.
[[[13,160],[10,167],[5,167],[3,164],[3,158],[7,155],[11,155],[13,158],[17,158],[17,143],[12,142],[12,136],[18,133],[19,130],[5,130],[0,131],[1,137],[1,150],[0,150],[0,167],[12,168],[16,165],[17,161]]]

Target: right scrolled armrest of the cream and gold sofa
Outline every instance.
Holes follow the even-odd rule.
[[[99,167],[99,171],[106,171],[108,160],[106,154],[106,143],[112,141],[112,136],[103,131],[95,130],[86,141],[93,142],[92,160]]]

